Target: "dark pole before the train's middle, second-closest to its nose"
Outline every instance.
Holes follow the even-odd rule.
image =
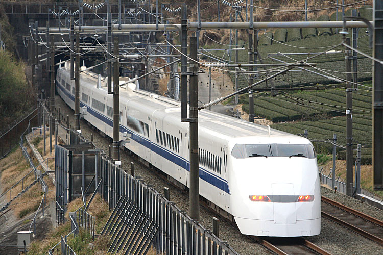
[[[119,47],[118,37],[114,37],[114,63],[113,63],[113,160],[119,161]]]

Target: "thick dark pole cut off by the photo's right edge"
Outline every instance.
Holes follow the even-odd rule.
[[[374,1],[374,17],[381,16],[383,1]],[[383,24],[375,21],[373,31],[373,57],[383,60]],[[374,168],[374,190],[383,190],[383,65],[374,61],[372,67],[372,166]]]

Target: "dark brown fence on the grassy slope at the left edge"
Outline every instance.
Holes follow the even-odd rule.
[[[37,125],[37,108],[0,136],[0,159],[18,145],[20,135],[25,133],[30,125]]]

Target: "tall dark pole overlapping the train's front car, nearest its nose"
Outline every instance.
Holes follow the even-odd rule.
[[[197,37],[190,37],[190,58],[197,61]],[[190,218],[200,220],[200,180],[198,158],[198,64],[190,61]]]

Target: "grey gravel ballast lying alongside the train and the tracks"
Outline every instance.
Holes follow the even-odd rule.
[[[56,96],[56,107],[60,107],[61,113],[69,115],[69,123],[73,126],[73,110],[71,110],[64,101]],[[90,140],[90,133],[93,133],[93,142],[99,147],[108,150],[108,145],[111,145],[111,140],[101,136],[97,131],[92,128],[83,120],[80,122],[82,134],[85,138]],[[139,164],[134,158],[130,157],[127,153],[121,153],[122,168],[130,172],[130,162],[135,163],[135,175],[141,176],[147,183],[154,186],[154,188],[160,193],[163,192],[163,188],[170,188],[171,200],[174,201],[178,208],[189,212],[189,198],[187,194],[184,194],[179,189],[174,188],[169,183],[166,183],[160,179],[153,170]],[[344,205],[361,211],[377,219],[383,220],[383,211],[361,203],[359,200],[347,197],[341,193],[334,193],[330,189],[321,187],[322,195],[332,200],[343,203]],[[221,218],[217,214],[212,213],[205,207],[201,207],[200,210],[200,222],[206,227],[212,229],[212,216]],[[231,223],[220,220],[220,239],[227,241],[230,246],[240,254],[273,254],[266,247],[260,245],[251,236],[242,235],[236,226]],[[327,250],[332,254],[383,254],[383,246],[377,244],[374,241],[358,235],[348,228],[345,228],[337,223],[327,220],[322,217],[321,234],[314,237],[307,237],[307,240],[315,243],[319,247]]]

